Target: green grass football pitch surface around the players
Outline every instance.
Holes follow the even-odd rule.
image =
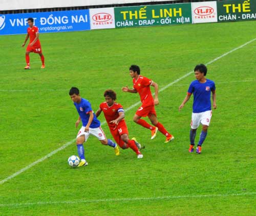
[[[131,64],[161,88],[255,35],[255,21],[40,34],[44,70],[37,54],[30,54],[32,69],[23,69],[25,35],[1,36],[0,180],[75,138],[71,86],[94,111],[107,88],[128,108],[139,101],[121,91],[132,87]],[[143,159],[130,149],[117,157],[90,137],[89,166],[71,169],[72,144],[1,184],[0,215],[255,215],[255,48],[253,41],[208,65],[218,109],[201,155],[188,153],[193,99],[178,112],[191,74],[159,94],[158,119],[174,142],[163,143],[160,132],[151,140],[150,131],[133,123],[136,106],[125,119],[130,137],[146,146]]]

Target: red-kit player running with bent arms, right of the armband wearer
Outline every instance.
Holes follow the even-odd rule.
[[[156,137],[156,133],[159,130],[162,134],[166,136],[164,142],[169,142],[174,139],[174,136],[170,134],[163,125],[158,122],[157,114],[155,110],[155,105],[159,104],[158,101],[158,85],[153,82],[151,79],[140,76],[140,68],[137,65],[131,65],[130,67],[130,75],[133,78],[133,89],[129,89],[127,86],[122,87],[122,91],[131,92],[131,93],[139,93],[140,101],[142,105],[137,110],[133,117],[133,121],[137,124],[150,129],[151,130],[151,139]],[[155,99],[152,96],[150,86],[155,88]],[[145,120],[141,119],[141,117],[147,116],[151,123],[155,126],[151,126]]]

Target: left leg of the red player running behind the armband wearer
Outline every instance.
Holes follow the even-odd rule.
[[[157,128],[148,124],[145,120],[141,119],[141,117],[145,117],[148,115],[149,111],[151,110],[151,106],[147,106],[147,107],[140,107],[134,117],[133,117],[133,121],[136,122],[137,124],[141,125],[144,128],[150,129],[151,130],[151,139],[154,139],[156,137],[156,133],[157,133]]]

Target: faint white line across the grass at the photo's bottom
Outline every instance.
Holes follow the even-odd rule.
[[[209,195],[185,195],[185,196],[164,196],[164,197],[134,197],[134,198],[117,198],[117,199],[99,199],[99,200],[75,200],[75,201],[53,201],[53,202],[35,202],[35,203],[12,203],[0,204],[0,207],[15,207],[28,205],[56,205],[56,204],[78,204],[78,203],[99,203],[99,202],[127,202],[127,201],[146,201],[146,200],[173,200],[187,198],[209,198],[209,197],[238,197],[256,195],[256,192],[242,194],[209,194]]]

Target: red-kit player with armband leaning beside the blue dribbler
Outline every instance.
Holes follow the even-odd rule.
[[[128,129],[124,121],[124,110],[122,106],[115,102],[116,93],[109,89],[104,92],[105,101],[99,105],[96,117],[103,111],[106,122],[109,125],[110,132],[117,144],[122,149],[131,148],[136,154],[137,158],[142,158],[143,155],[140,153],[140,143],[135,138],[129,139]]]

